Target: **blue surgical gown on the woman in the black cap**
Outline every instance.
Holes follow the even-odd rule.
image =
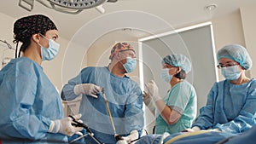
[[[0,139],[50,143],[67,136],[48,133],[50,120],[63,118],[61,98],[43,68],[33,60],[11,60],[0,71]],[[9,141],[10,142],[10,141]],[[20,142],[21,143],[21,142]],[[36,142],[32,142],[36,143]]]

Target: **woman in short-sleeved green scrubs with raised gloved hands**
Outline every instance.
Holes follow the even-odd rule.
[[[191,63],[185,55],[166,55],[162,65],[161,78],[170,84],[170,89],[162,100],[157,85],[151,80],[145,84],[148,93],[143,95],[143,101],[150,108],[153,98],[158,110],[154,133],[173,134],[191,127],[196,117],[196,93],[193,85],[185,80],[191,70]]]

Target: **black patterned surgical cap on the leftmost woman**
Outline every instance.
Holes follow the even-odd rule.
[[[42,14],[34,14],[15,21],[15,41],[25,42],[35,33],[44,34],[49,30],[57,30],[54,22]]]

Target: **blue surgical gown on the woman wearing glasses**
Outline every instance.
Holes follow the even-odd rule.
[[[256,80],[231,84],[230,80],[215,83],[195,124],[201,130],[218,128],[229,133],[242,133],[256,124]]]

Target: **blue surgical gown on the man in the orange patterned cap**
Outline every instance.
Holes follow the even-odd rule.
[[[127,135],[131,130],[143,129],[143,94],[137,83],[131,78],[119,78],[109,72],[108,67],[86,67],[77,77],[68,81],[61,91],[66,101],[75,99],[73,88],[76,84],[96,84],[105,90],[113,124],[118,135]],[[88,124],[96,138],[104,143],[116,143],[113,128],[108,118],[102,93],[98,98],[83,95],[79,112],[82,120]],[[85,137],[87,143],[93,143]]]

